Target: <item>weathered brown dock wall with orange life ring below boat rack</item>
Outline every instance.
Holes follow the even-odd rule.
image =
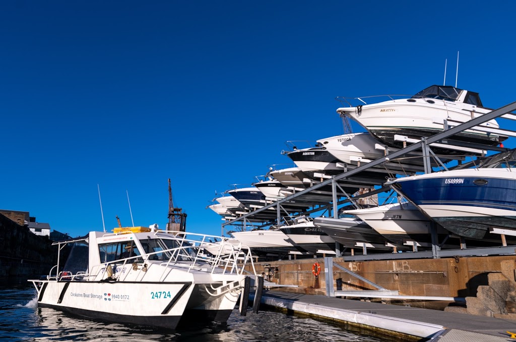
[[[312,273],[315,262],[319,263],[321,267],[321,273],[317,278]],[[343,258],[334,258],[333,262],[386,289],[399,290],[399,294],[405,296],[477,297],[479,289],[483,293],[489,293],[482,286],[489,286],[488,275],[493,273],[502,277],[496,278],[498,283],[505,281],[516,284],[514,278],[515,255],[360,262],[346,262]],[[298,286],[279,287],[278,290],[326,295],[324,258],[261,262],[256,263],[255,267],[257,272],[264,274],[266,280],[281,285]],[[336,267],[332,272],[335,289],[375,289]],[[507,288],[507,286],[498,285],[497,288]],[[410,303],[411,306],[440,310],[444,310],[450,304],[449,302],[407,300],[388,302]],[[510,303],[508,304],[510,305]]]

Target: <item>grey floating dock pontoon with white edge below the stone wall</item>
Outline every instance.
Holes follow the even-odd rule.
[[[277,290],[264,289],[261,304],[414,340],[514,341],[516,333],[508,319]]]

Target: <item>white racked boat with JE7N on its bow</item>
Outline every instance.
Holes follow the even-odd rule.
[[[392,243],[403,245],[407,241],[431,244],[432,221],[412,203],[390,203],[383,206],[344,211],[355,215]],[[438,237],[444,239],[449,232],[436,225]]]

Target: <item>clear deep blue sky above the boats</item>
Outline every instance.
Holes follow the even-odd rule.
[[[205,207],[288,140],[341,134],[336,96],[455,84],[516,101],[512,2],[4,1],[0,209],[72,236]],[[510,122],[499,120],[514,129]],[[507,147],[514,147],[511,140]]]

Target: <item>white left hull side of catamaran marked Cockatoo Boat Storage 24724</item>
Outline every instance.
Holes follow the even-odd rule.
[[[87,318],[175,329],[191,283],[44,281],[38,306]]]

